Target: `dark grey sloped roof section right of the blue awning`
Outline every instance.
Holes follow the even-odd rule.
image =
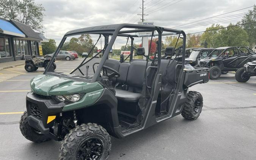
[[[10,22],[13,25],[15,25],[17,28],[19,28],[26,35],[26,38],[30,38],[31,40],[35,40],[35,41],[42,40],[42,38],[40,38],[40,36],[28,25],[22,24],[12,19],[10,19]]]

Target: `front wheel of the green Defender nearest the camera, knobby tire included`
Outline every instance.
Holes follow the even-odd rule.
[[[60,160],[106,160],[111,150],[108,132],[95,123],[72,129],[61,143]]]

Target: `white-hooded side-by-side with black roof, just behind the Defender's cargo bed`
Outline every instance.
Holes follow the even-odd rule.
[[[199,64],[201,59],[206,58],[214,48],[197,48],[193,49],[189,57],[185,59],[185,63],[189,63],[191,66]]]

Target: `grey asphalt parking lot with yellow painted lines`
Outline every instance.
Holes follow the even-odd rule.
[[[99,61],[95,59],[89,65]],[[82,61],[57,61],[57,71],[71,72]],[[32,143],[20,133],[30,79],[44,69],[24,66],[0,70],[0,159],[58,159],[60,142]],[[92,74],[92,72],[90,72]],[[90,75],[89,74],[89,75]],[[181,115],[123,139],[112,137],[110,160],[256,159],[256,77],[239,83],[234,74],[195,85],[204,98],[195,121]]]

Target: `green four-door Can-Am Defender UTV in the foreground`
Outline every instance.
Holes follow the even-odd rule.
[[[203,97],[188,88],[208,82],[209,69],[185,69],[184,31],[135,24],[82,28],[66,33],[53,57],[65,41],[85,34],[97,38],[88,55],[94,53],[99,39],[104,39],[101,52],[87,61],[86,57],[70,74],[53,71],[52,58],[44,74],[31,80],[27,111],[20,120],[25,138],[62,141],[61,160],[105,160],[110,155],[110,135],[124,138],[179,114],[186,119],[198,118]],[[182,61],[157,59],[166,35],[183,39]],[[153,36],[158,39],[152,60],[144,48],[133,47],[135,39],[145,36],[149,37],[149,51]],[[126,57],[129,61],[108,59],[114,42],[122,40],[131,46]],[[165,55],[173,56],[175,47],[167,47]],[[101,53],[102,58],[95,58]],[[145,58],[134,59],[135,53]],[[85,64],[93,66],[94,74]]]

